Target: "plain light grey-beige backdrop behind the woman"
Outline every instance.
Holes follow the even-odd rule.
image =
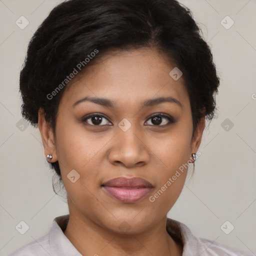
[[[25,123],[20,128],[18,93],[28,41],[59,2],[0,0],[0,255],[37,239],[54,217],[68,213],[65,200],[53,192],[38,129]],[[204,130],[194,175],[168,217],[198,237],[255,254],[256,2],[180,2],[192,10],[210,44],[221,81],[218,118]],[[20,16],[29,22],[23,29],[15,23]],[[29,226],[24,234],[15,228],[21,220]]]

